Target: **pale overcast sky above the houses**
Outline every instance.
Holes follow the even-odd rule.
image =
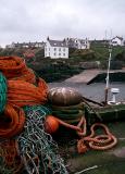
[[[125,38],[125,0],[0,0],[0,46],[66,37]]]

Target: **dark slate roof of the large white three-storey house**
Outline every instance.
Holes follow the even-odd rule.
[[[48,39],[48,41],[51,45],[51,47],[67,47],[65,40],[50,40],[50,39]]]

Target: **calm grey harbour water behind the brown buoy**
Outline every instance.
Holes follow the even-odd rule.
[[[97,101],[104,100],[104,83],[96,83],[91,85],[86,84],[76,84],[76,83],[49,83],[50,88],[53,87],[72,87],[79,91],[83,96],[88,97],[90,99]],[[116,101],[125,101],[125,83],[112,83],[110,84],[110,88],[120,88],[120,94],[116,95]],[[109,100],[111,99],[111,92],[109,92]]]

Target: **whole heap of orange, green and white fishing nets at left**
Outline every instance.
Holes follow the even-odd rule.
[[[0,58],[0,173],[66,174],[45,130],[48,86],[17,57]]]

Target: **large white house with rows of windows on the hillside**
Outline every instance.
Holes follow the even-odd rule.
[[[51,40],[49,37],[47,38],[47,42],[45,46],[45,58],[68,58],[68,47],[66,45],[65,39],[64,40]]]

